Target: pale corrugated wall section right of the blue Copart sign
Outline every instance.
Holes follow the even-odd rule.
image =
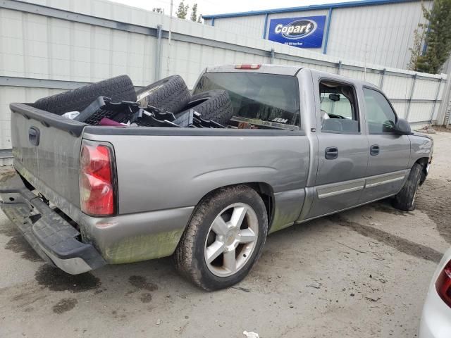
[[[327,54],[407,68],[414,30],[424,22],[420,1],[336,8],[330,21]]]

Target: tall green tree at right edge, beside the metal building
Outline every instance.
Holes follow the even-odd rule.
[[[431,9],[422,8],[428,20],[426,53],[416,58],[415,70],[437,74],[451,54],[451,0],[434,0]]]

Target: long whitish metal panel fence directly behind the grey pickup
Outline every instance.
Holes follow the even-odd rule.
[[[397,114],[417,127],[445,118],[438,116],[445,75],[340,60],[109,1],[2,0],[0,21],[0,149],[11,148],[11,101],[120,74],[137,87],[180,74],[192,87],[204,67],[223,63],[297,65],[359,78],[381,87]]]

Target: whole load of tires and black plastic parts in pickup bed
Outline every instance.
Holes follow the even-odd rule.
[[[99,96],[87,106],[95,93]],[[228,123],[233,114],[226,91],[192,95],[180,75],[166,77],[136,93],[130,77],[113,77],[39,99],[33,106],[88,125],[109,127],[226,128],[217,121]]]

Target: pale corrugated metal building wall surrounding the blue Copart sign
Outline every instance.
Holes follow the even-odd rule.
[[[432,1],[424,1],[424,4],[429,8]],[[269,13],[265,37],[268,36],[271,19],[314,15],[328,16],[328,10]],[[407,68],[414,30],[419,23],[425,22],[421,1],[333,8],[331,17],[327,55],[393,68]],[[252,15],[215,18],[214,25],[230,32],[240,32],[241,35],[261,37],[264,22],[265,15]],[[206,20],[206,24],[211,25],[211,20]],[[325,44],[326,35],[321,49],[309,50],[322,52]]]

